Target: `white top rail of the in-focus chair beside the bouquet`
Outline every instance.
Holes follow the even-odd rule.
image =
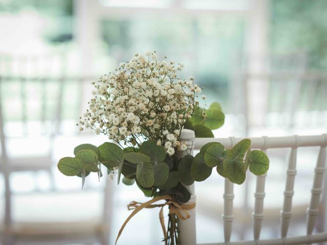
[[[219,142],[226,149],[232,148],[232,138],[195,138],[193,143],[194,150],[200,148],[208,142]],[[239,142],[244,138],[234,138],[235,142]],[[271,149],[271,148],[298,148],[305,146],[326,146],[327,134],[310,135],[310,136],[283,136],[283,137],[250,137],[252,149]]]

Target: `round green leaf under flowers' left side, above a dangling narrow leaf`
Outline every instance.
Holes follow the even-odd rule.
[[[116,144],[105,142],[99,147],[100,162],[106,167],[116,167],[123,160],[123,150]]]

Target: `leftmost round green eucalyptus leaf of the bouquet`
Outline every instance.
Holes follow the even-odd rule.
[[[85,163],[75,157],[64,157],[58,162],[59,171],[66,176],[76,176],[85,170]]]

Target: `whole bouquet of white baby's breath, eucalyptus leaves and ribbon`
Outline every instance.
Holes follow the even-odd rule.
[[[166,57],[165,57],[166,59]],[[89,109],[80,118],[80,130],[92,129],[108,136],[111,142],[100,146],[81,144],[74,149],[75,157],[64,157],[58,168],[66,176],[79,176],[84,185],[90,172],[102,176],[101,165],[111,179],[118,183],[136,183],[147,197],[147,203],[131,202],[134,209],[128,220],[146,207],[161,207],[160,223],[165,244],[180,244],[179,220],[190,217],[187,210],[195,203],[190,185],[204,181],[212,168],[231,182],[242,184],[246,170],[255,175],[266,173],[269,159],[261,151],[250,150],[250,140],[244,139],[232,149],[225,150],[218,142],[205,144],[193,157],[191,148],[181,142],[183,129],[194,130],[196,137],[214,137],[212,130],[224,124],[219,103],[202,108],[196,100],[201,93],[194,79],[180,79],[177,72],[183,65],[159,60],[156,53],[135,54],[121,63],[113,74],[101,76],[93,82],[96,90]],[[114,143],[113,143],[114,142]],[[246,156],[245,156],[246,155]],[[153,204],[165,200],[165,204]],[[162,208],[169,207],[167,230]],[[116,241],[117,241],[116,240]]]

